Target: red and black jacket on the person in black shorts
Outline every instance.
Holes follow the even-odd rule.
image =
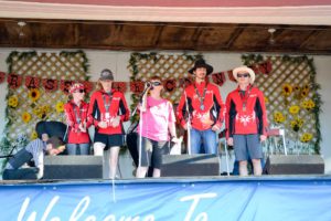
[[[88,108],[88,120],[94,124],[99,134],[125,134],[122,122],[127,122],[130,117],[130,110],[127,106],[126,98],[121,92],[111,90],[110,94],[105,91],[96,91],[90,96]],[[116,127],[111,126],[114,117],[120,116],[120,124]],[[99,122],[106,122],[106,128],[99,128]]]

